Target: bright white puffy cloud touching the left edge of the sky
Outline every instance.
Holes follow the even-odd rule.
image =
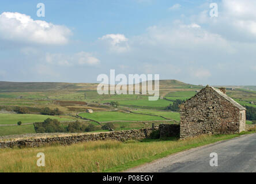
[[[71,31],[65,26],[33,20],[21,13],[0,14],[0,39],[36,44],[66,44]]]

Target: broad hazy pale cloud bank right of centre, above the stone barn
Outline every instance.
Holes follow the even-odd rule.
[[[133,43],[144,45],[146,48],[156,47],[156,50],[161,49],[168,52],[171,49],[178,52],[189,49],[194,53],[202,53],[206,49],[211,52],[235,52],[234,48],[220,34],[210,33],[201,29],[197,24],[179,23],[172,26],[152,26],[148,28],[146,34],[135,37]]]

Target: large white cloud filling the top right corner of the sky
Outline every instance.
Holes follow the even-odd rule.
[[[218,17],[211,18],[209,9],[204,9],[198,15],[191,16],[190,20],[208,25],[211,32],[221,34],[231,41],[256,40],[256,1],[223,0],[218,5],[221,7]]]

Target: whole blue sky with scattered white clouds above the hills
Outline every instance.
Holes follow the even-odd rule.
[[[256,85],[255,9],[255,0],[1,1],[0,81],[97,82],[115,69]]]

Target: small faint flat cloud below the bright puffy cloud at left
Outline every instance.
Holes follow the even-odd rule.
[[[73,55],[65,55],[62,53],[46,53],[44,60],[47,63],[59,66],[95,66],[100,63],[100,60],[92,56],[88,52],[78,52]]]

